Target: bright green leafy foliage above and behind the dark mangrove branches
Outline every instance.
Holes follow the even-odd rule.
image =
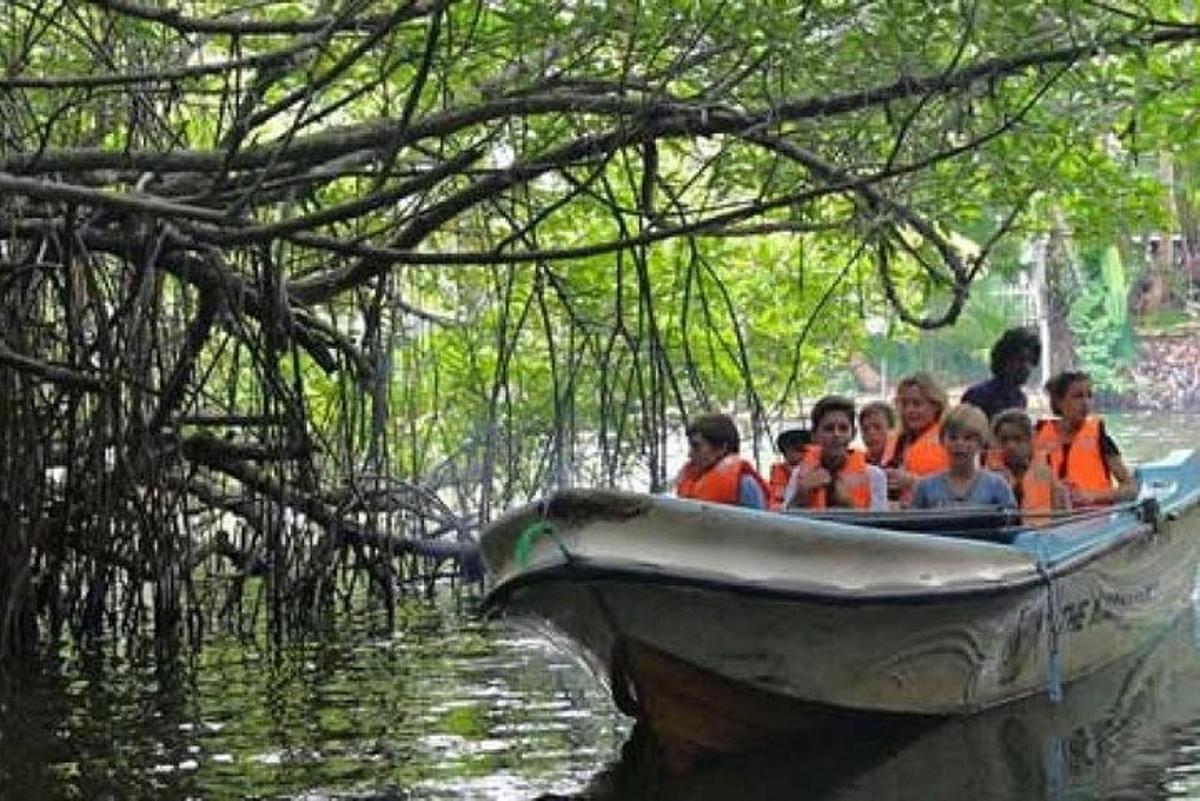
[[[32,236],[98,221],[101,241],[80,239],[114,263],[124,253],[106,245],[144,228],[133,249],[220,255],[230,287],[284,287],[259,303],[230,299],[236,325],[223,331],[241,342],[205,345],[191,405],[302,412],[335,475],[386,440],[388,470],[466,486],[464,508],[563,476],[642,478],[647,465],[642,483],[661,486],[685,417],[731,410],[762,433],[845,387],[864,349],[895,373],[977,378],[1019,318],[997,293],[1022,241],[1058,227],[1121,241],[1200,205],[1195,181],[1172,204],[1157,175],[1162,152],[1200,163],[1198,60],[1180,32],[1194,12],[1178,4],[512,0],[416,4],[385,30],[374,16],[407,6],[76,5],[0,6],[6,77],[102,79],[0,96],[0,171],[221,216],[199,224],[101,201],[65,215],[38,198],[5,222]],[[374,22],[338,28],[360,14]],[[318,18],[306,34],[235,30]],[[188,19],[233,28],[173,28]],[[239,161],[247,152],[257,161]],[[163,158],[131,168],[131,153]],[[80,171],[80,156],[108,159]],[[35,206],[46,216],[22,228]],[[302,230],[246,247],[193,236],[305,216]],[[985,269],[972,260],[982,247]],[[1094,272],[1072,325],[1103,385],[1105,368],[1120,381],[1128,353],[1129,278],[1120,263]],[[337,289],[312,291],[323,279]],[[950,321],[967,288],[936,333],[889,308]],[[276,309],[289,297],[302,300]],[[106,303],[137,306],[116,291]],[[256,361],[278,323],[256,319],[263,309],[298,329],[301,313],[328,323],[343,369],[318,368],[302,345]],[[892,320],[886,337],[868,339],[869,318]],[[355,350],[374,372],[346,369]],[[174,359],[154,354],[164,374]],[[281,387],[300,397],[284,403]]]

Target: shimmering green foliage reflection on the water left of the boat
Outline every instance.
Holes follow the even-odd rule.
[[[529,799],[578,790],[628,725],[540,640],[416,604],[270,651],[125,646],[0,688],[0,799]]]

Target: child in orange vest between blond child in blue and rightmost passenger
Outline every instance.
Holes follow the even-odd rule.
[[[1070,508],[1067,486],[1055,478],[1045,452],[1033,450],[1033,421],[1024,410],[992,417],[991,441],[988,468],[1008,478],[1026,523],[1045,524],[1049,512]]]

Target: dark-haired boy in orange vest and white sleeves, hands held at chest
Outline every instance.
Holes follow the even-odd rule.
[[[812,406],[812,446],[792,471],[785,502],[803,508],[886,508],[887,478],[851,450],[854,402],[830,395]],[[871,481],[871,471],[878,478]]]

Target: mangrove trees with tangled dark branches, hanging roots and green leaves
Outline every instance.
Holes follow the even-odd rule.
[[[0,658],[389,606],[1194,198],[1182,4],[239,8],[0,8]]]

